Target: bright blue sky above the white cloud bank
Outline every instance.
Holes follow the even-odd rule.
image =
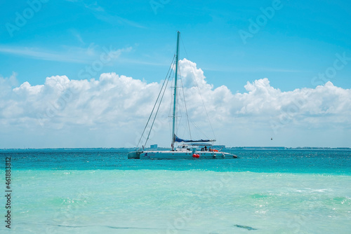
[[[327,81],[343,90],[351,88],[349,1],[29,0],[2,1],[0,6],[0,77],[11,81],[12,89],[25,82],[44,85],[51,76],[90,81],[111,72],[159,83],[172,60],[177,31],[182,38],[180,59],[195,62],[213,90],[225,85],[233,95],[244,94],[249,92],[244,87],[248,82],[263,78],[281,92],[314,90]],[[243,33],[251,36],[243,38]],[[98,63],[112,50],[112,60]],[[89,73],[87,67],[94,64],[102,65]],[[13,96],[4,98],[9,101]],[[338,128],[340,135],[350,137],[348,122]],[[18,127],[18,132],[22,130]],[[58,132],[65,130],[69,131],[66,125]],[[274,135],[271,130],[262,130],[263,135]],[[31,133],[26,134],[29,139]],[[313,136],[313,131],[308,134]],[[13,143],[13,135],[8,146],[22,147]],[[286,142],[277,144],[289,146]],[[86,146],[66,143],[25,145]],[[265,143],[255,139],[241,144]]]

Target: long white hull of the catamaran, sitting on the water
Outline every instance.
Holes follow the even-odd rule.
[[[194,154],[198,155],[198,158],[194,158]],[[223,152],[210,152],[210,151],[144,151],[128,153],[128,158],[140,158],[140,159],[231,159],[237,158],[237,156],[230,153]]]

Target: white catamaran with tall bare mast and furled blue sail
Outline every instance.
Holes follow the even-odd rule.
[[[174,92],[173,92],[173,115],[172,115],[172,142],[171,150],[168,151],[144,151],[143,149],[138,149],[136,151],[128,153],[128,158],[140,158],[140,159],[193,159],[193,158],[206,158],[206,159],[216,159],[216,158],[237,158],[237,156],[221,152],[220,150],[212,149],[211,146],[214,139],[199,139],[199,140],[187,140],[180,139],[176,136],[176,104],[177,104],[177,79],[178,79],[178,54],[179,54],[179,36],[180,32],[177,33],[177,48],[176,48],[176,58],[175,58],[175,75],[174,75]],[[166,80],[165,80],[166,81]],[[162,89],[161,89],[162,92]],[[161,95],[159,94],[159,97]],[[161,95],[163,96],[163,95]],[[159,99],[157,98],[157,100]],[[155,104],[156,106],[156,104]],[[154,109],[155,109],[154,106]],[[154,112],[152,109],[152,112]],[[157,109],[158,111],[158,109]],[[157,112],[156,111],[156,112]],[[156,113],[157,115],[157,113]],[[156,118],[156,115],[154,118]],[[151,118],[152,114],[150,115]],[[149,121],[150,121],[149,118]],[[147,121],[147,125],[149,123]],[[152,123],[153,125],[153,123]],[[152,127],[151,127],[152,128]],[[146,126],[145,126],[146,129]],[[144,132],[145,132],[144,129]],[[151,131],[151,129],[150,129]],[[143,134],[144,134],[143,132]],[[150,136],[150,132],[149,132]],[[149,136],[147,139],[149,139]],[[143,137],[143,136],[142,136]],[[147,142],[146,139],[146,142]],[[140,138],[141,140],[141,138]],[[140,142],[140,141],[139,141]],[[145,142],[145,144],[146,144]],[[175,147],[176,143],[181,143],[179,146]],[[137,146],[138,147],[138,146]]]

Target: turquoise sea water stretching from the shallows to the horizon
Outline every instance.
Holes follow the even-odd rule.
[[[227,152],[239,158],[1,150],[2,168],[12,163],[11,233],[350,233],[351,151]]]

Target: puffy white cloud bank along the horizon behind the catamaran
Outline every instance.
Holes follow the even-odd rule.
[[[211,133],[208,116],[218,144],[351,146],[351,90],[327,82],[282,92],[260,78],[247,82],[246,92],[233,93],[207,83],[194,62],[180,60],[180,70],[190,122]],[[135,146],[162,83],[107,73],[98,80],[51,76],[43,85],[18,85],[15,76],[0,77],[0,148]],[[159,111],[163,120],[149,143],[170,144],[171,98],[168,88]]]

